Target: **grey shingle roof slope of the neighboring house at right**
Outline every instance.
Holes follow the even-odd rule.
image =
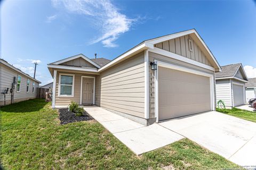
[[[241,63],[221,66],[222,72],[215,73],[215,78],[233,77]]]

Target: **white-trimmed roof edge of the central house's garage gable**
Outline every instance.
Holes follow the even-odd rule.
[[[157,37],[157,38],[153,38],[153,39],[148,39],[145,41],[142,41],[140,44],[138,44],[137,46],[127,50],[125,53],[123,53],[122,55],[119,55],[118,57],[116,57],[114,60],[112,60],[111,62],[109,62],[108,64],[102,66],[99,69],[99,72],[107,69],[110,66],[113,66],[115,64],[117,64],[120,61],[125,60],[126,58],[131,57],[132,55],[138,54],[139,52],[142,52],[145,49],[154,49],[154,44],[160,43],[162,41],[166,41],[166,40],[170,40],[173,38],[177,38],[177,37],[181,37],[181,36],[185,36],[185,35],[189,35],[193,33],[193,35],[195,37],[197,37],[199,43],[204,46],[206,52],[210,55],[210,57],[212,58],[212,61],[214,63],[214,67],[218,68],[217,71],[221,71],[221,67],[219,65],[219,63],[217,62],[216,58],[213,56],[213,54],[211,53],[211,50],[206,46],[206,44],[204,43],[203,39],[199,36],[199,34],[197,33],[197,31],[195,29],[191,29],[191,30],[187,30],[187,31],[182,31],[182,32],[177,32],[177,33],[172,33],[170,35],[166,35],[166,36],[162,36],[162,37]]]

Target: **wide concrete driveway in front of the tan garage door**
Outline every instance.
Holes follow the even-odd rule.
[[[159,125],[238,165],[256,165],[256,123],[219,112],[208,112]]]

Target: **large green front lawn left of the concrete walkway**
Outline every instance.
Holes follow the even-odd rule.
[[[183,139],[136,156],[96,121],[60,125],[42,99],[1,108],[5,169],[223,169],[239,168]]]

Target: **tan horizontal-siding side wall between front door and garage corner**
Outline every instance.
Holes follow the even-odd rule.
[[[96,77],[95,104],[144,117],[144,70],[144,53],[139,53],[101,72]]]

